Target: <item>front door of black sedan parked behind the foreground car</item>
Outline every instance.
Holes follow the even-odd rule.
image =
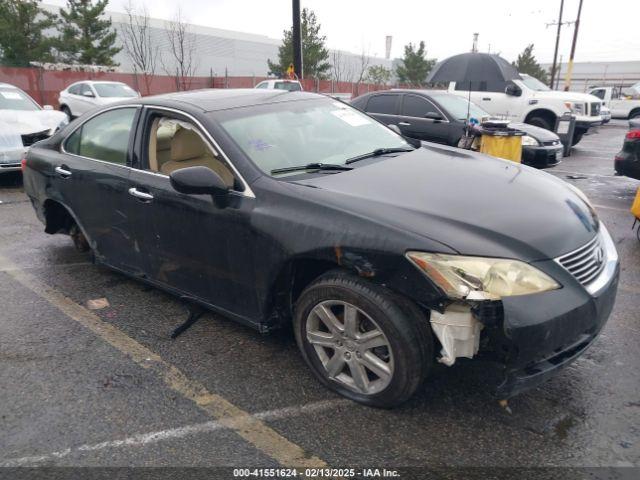
[[[452,125],[444,113],[423,96],[408,93],[402,97],[398,122],[402,134],[418,140],[448,144]],[[426,118],[427,116],[441,118]]]

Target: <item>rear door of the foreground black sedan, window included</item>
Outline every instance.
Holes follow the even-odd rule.
[[[96,258],[140,272],[127,210],[131,154],[139,108],[118,107],[89,118],[52,159],[53,190],[76,217]]]

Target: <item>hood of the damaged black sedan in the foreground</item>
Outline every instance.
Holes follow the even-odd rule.
[[[465,255],[555,258],[587,243],[598,228],[595,212],[562,180],[449,147],[427,145],[294,183],[314,187],[323,194],[316,201],[327,206]]]

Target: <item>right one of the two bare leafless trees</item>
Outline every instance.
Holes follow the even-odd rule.
[[[175,76],[178,90],[187,89],[187,82],[195,73],[197,62],[194,58],[195,37],[189,31],[189,24],[178,11],[173,20],[165,24],[169,42],[169,59],[161,57],[162,68],[167,75]]]

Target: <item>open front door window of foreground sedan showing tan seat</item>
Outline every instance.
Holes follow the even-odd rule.
[[[150,124],[149,170],[169,175],[181,168],[207,167],[216,172],[229,188],[234,188],[231,168],[193,124],[165,116],[155,117]]]

